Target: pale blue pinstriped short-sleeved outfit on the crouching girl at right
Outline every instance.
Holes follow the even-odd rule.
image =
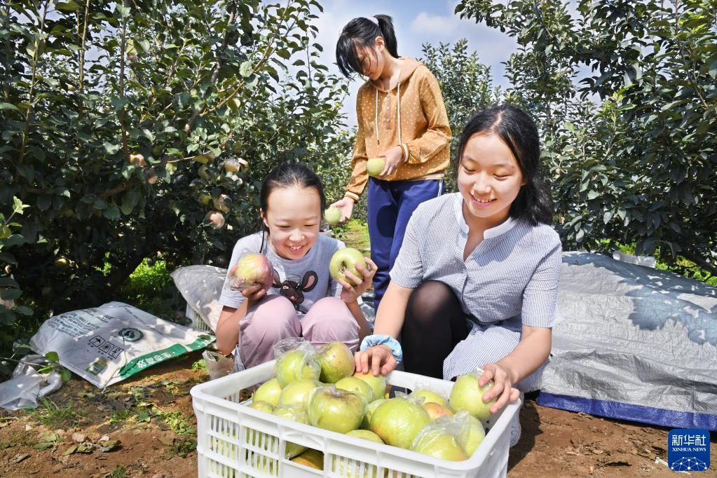
[[[522,325],[551,328],[562,322],[557,295],[560,238],[551,226],[508,219],[487,229],[463,260],[468,226],[460,193],[425,201],[409,220],[391,280],[414,289],[427,280],[452,288],[465,312],[468,336],[443,363],[446,379],[493,363],[521,340]],[[518,383],[535,385],[545,364]]]

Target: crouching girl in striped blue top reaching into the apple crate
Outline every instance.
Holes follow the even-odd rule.
[[[481,385],[495,383],[484,397],[496,398],[492,413],[536,389],[563,320],[561,244],[539,159],[522,110],[500,105],[468,121],[459,192],[412,215],[357,371],[385,375],[403,358],[408,372],[450,380],[481,367]]]

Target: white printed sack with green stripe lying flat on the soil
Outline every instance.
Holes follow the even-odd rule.
[[[213,341],[211,335],[131,305],[108,302],[49,318],[30,340],[30,347],[42,355],[57,352],[60,364],[105,388]]]

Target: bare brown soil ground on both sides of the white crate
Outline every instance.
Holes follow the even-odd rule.
[[[193,353],[156,365],[104,394],[74,376],[37,411],[0,418],[0,477],[194,477],[196,421],[189,389],[208,380]],[[667,429],[538,406],[521,410],[523,434],[508,477],[673,477]],[[73,435],[75,439],[73,439]],[[712,437],[711,471],[717,444]]]

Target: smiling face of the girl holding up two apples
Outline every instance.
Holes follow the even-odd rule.
[[[301,259],[316,243],[321,221],[321,199],[315,188],[276,188],[267,198],[262,221],[269,244],[283,259]]]

